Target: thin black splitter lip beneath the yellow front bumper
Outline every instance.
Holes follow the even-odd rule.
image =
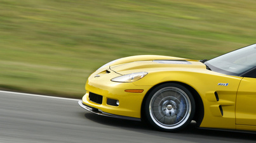
[[[113,117],[113,118],[121,118],[121,119],[126,119],[126,120],[140,121],[140,118],[133,118],[133,117],[129,117],[129,116],[119,116],[119,115],[114,115],[111,113],[105,113],[105,112],[101,111],[100,109],[92,108],[90,106],[87,106],[86,104],[83,104],[83,101],[78,101],[78,104],[81,106],[81,108],[86,109],[87,111],[90,111],[91,113],[95,113],[97,115],[109,116],[109,117]]]

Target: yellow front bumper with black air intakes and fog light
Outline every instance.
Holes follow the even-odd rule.
[[[95,71],[86,82],[86,94],[82,103],[90,108],[110,115],[140,118],[140,109],[145,94],[151,86],[139,86],[131,83],[112,82],[120,76],[114,71]],[[142,93],[126,92],[130,89],[144,90]],[[116,101],[110,104],[108,101]],[[92,111],[91,109],[89,109]],[[96,113],[98,113],[96,111]]]

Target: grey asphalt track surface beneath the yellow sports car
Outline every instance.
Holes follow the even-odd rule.
[[[0,91],[0,142],[256,142],[256,134],[199,129],[158,132],[140,121],[94,115],[77,100]]]

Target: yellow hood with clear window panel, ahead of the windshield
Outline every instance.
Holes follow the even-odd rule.
[[[183,59],[176,57],[156,57],[154,59],[140,59],[138,61],[129,61],[109,67],[112,71],[125,75],[138,71],[166,71],[166,70],[188,70],[205,69],[206,66],[197,60]]]

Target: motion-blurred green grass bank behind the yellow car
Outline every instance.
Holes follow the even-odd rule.
[[[81,98],[113,59],[210,59],[255,43],[254,0],[0,0],[0,89]]]

